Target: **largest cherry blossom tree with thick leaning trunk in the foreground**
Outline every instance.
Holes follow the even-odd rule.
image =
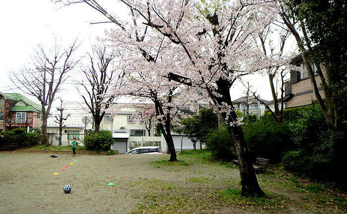
[[[117,45],[127,45],[127,51],[122,53],[124,60],[132,59],[134,53],[136,56],[142,55],[145,60],[137,60],[134,67],[150,69],[159,74],[154,80],[156,84],[146,87],[151,89],[153,85],[171,85],[175,81],[197,87],[210,96],[225,118],[236,148],[242,194],[264,195],[240,127],[242,122],[237,118],[231,102],[230,89],[243,75],[269,66],[268,61],[262,61],[262,52],[255,49],[251,35],[260,33],[260,29],[264,29],[275,16],[272,2],[120,0],[129,7],[132,20],[128,22],[120,21],[95,0],[84,1],[120,27],[111,32],[109,38]],[[256,19],[255,14],[262,14],[262,19]],[[151,62],[151,66],[144,64],[144,61]],[[148,72],[145,75],[147,79],[153,78],[153,74]],[[167,112],[172,112],[174,108],[171,102],[160,102],[157,96],[166,94],[167,98],[172,98],[178,87],[171,85],[166,90],[157,91],[161,93],[149,90],[163,129],[168,125],[163,121],[171,117],[165,117],[164,109],[157,104],[164,104]]]

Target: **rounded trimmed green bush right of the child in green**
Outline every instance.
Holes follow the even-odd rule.
[[[84,135],[84,146],[90,151],[108,151],[113,143],[111,131],[100,130],[99,133],[91,131]]]

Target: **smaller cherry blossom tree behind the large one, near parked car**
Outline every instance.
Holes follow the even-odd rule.
[[[121,44],[118,43],[117,47],[121,48]],[[130,45],[126,44],[124,48],[130,48]],[[182,115],[179,108],[191,101],[195,90],[190,90],[190,87],[170,81],[166,77],[159,75],[157,66],[163,68],[162,63],[148,61],[143,57],[142,51],[138,47],[135,50],[139,52],[137,54],[136,52],[131,53],[132,57],[129,57],[128,60],[123,60],[122,63],[123,69],[126,70],[126,75],[122,81],[126,83],[127,87],[115,93],[121,92],[123,95],[133,96],[134,99],[143,98],[146,102],[148,99],[153,102],[156,120],[168,144],[169,161],[176,161],[177,157],[171,127],[172,124],[178,122],[179,117]],[[166,66],[169,69],[169,65],[167,64]]]

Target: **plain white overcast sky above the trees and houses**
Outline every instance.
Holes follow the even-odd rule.
[[[100,1],[102,5],[107,0]],[[108,1],[108,11],[122,6],[117,1]],[[8,79],[8,71],[19,71],[30,61],[29,55],[38,44],[51,47],[57,38],[62,44],[71,44],[78,38],[82,42],[79,55],[83,55],[97,36],[103,37],[104,30],[115,25],[112,23],[93,24],[90,22],[108,21],[101,13],[85,3],[59,8],[50,0],[5,0],[0,6],[0,92],[22,93]],[[124,12],[124,10],[123,10]],[[127,12],[127,10],[125,11]],[[118,14],[118,16],[120,16]],[[272,100],[267,76],[249,75],[253,90],[260,97]],[[82,101],[72,84],[63,85],[65,93],[60,94],[64,101]],[[245,87],[234,84],[231,89],[232,100],[244,96]],[[31,98],[34,102],[34,98]]]

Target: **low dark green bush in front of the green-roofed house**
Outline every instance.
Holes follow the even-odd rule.
[[[16,128],[1,132],[6,143],[16,143],[20,147],[36,146],[41,143],[42,134],[39,132],[26,132],[25,128]]]

